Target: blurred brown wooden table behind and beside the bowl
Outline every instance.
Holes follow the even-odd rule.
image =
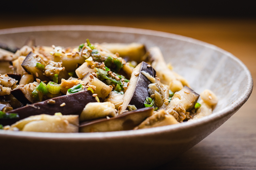
[[[1,16],[0,29],[89,24],[151,29],[199,39],[237,56],[256,80],[256,20],[94,16]],[[156,169],[256,169],[256,92],[220,128]]]

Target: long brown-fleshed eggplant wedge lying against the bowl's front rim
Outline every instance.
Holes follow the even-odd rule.
[[[152,116],[153,107],[137,109],[126,112],[113,118],[103,118],[94,121],[86,121],[79,125],[80,132],[111,132],[132,130],[147,117]]]

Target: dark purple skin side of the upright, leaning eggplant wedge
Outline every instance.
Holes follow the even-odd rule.
[[[156,77],[156,70],[154,70],[153,67],[147,67],[146,62],[142,62],[141,65],[141,71],[148,72],[152,77]],[[133,96],[131,98],[131,101],[129,105],[135,105],[136,108],[143,108],[144,106],[144,101],[146,97],[149,97],[148,94],[148,85],[151,84],[151,82],[146,78],[145,75],[139,74],[139,79],[136,84],[136,88],[134,90]]]

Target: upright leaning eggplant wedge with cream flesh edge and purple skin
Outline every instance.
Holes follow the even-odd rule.
[[[136,108],[145,107],[144,101],[146,97],[149,97],[148,85],[152,82],[141,71],[145,71],[154,78],[156,77],[156,71],[147,63],[141,62],[137,65],[132,72],[129,86],[123,98],[124,102],[119,113],[124,112],[128,105],[135,105]]]

